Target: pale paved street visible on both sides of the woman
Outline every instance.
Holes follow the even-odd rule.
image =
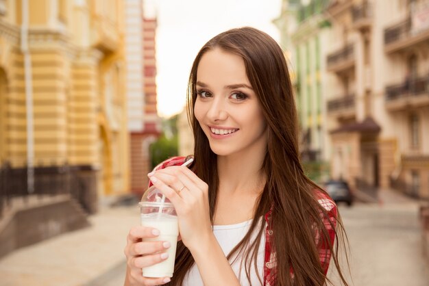
[[[397,194],[383,198],[382,203],[339,205],[351,248],[347,281],[356,286],[427,286],[418,204]],[[138,223],[138,208],[101,209],[90,220],[92,226],[86,229],[0,259],[0,286],[122,285],[125,237],[130,226]],[[329,277],[333,285],[341,285],[332,265]]]

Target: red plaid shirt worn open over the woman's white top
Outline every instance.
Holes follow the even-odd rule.
[[[167,159],[166,161],[163,161],[161,164],[155,167],[154,170],[160,170],[163,168],[167,168],[169,166],[180,166],[184,163],[184,159],[186,157],[172,157],[170,159]],[[151,183],[149,183],[149,186]],[[315,190],[315,196],[317,197],[317,200],[319,203],[326,209],[328,212],[328,218],[325,218],[323,214],[321,213],[321,218],[323,218],[323,223],[325,225],[326,230],[328,231],[330,242],[333,245],[334,239],[335,239],[335,226],[336,226],[336,205],[332,201],[332,198],[330,198],[328,195],[324,194],[323,192],[320,192],[319,190]],[[271,286],[274,285],[275,282],[275,270],[277,268],[277,261],[275,259],[275,251],[272,248],[272,239],[273,237],[273,230],[269,228],[269,220],[271,218],[271,210],[265,214],[265,222],[266,223],[266,229],[265,229],[265,265],[264,265],[264,286]],[[334,227],[332,227],[331,223]],[[320,231],[316,233],[315,241],[317,244],[317,249],[319,250],[319,261],[321,263],[321,267],[323,269],[323,272],[328,272],[329,263],[331,259],[331,251],[329,248],[329,245],[323,242],[323,240],[320,239]]]

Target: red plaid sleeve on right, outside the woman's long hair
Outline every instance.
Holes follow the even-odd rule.
[[[323,273],[326,275],[328,273],[329,263],[332,256],[330,245],[333,247],[335,241],[337,209],[334,201],[325,194],[319,195],[318,202],[328,213],[328,216],[321,213],[321,218],[326,231],[328,231],[329,242],[324,239],[320,239],[321,230],[316,232],[315,237],[317,249],[319,250],[319,261],[321,263]]]

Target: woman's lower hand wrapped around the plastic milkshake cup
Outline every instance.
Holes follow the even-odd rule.
[[[127,246],[125,246],[125,257],[127,257],[127,273],[125,276],[125,286],[152,286],[163,285],[170,281],[169,277],[146,278],[142,275],[142,268],[167,259],[165,252],[169,247],[169,242],[143,242],[144,238],[157,237],[160,234],[158,229],[145,226],[135,226],[127,236]]]

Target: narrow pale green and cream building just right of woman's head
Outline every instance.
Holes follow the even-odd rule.
[[[300,1],[284,1],[282,13],[275,20],[283,31],[282,46],[289,51],[301,129],[301,158],[308,176],[318,182],[328,179],[330,161],[325,105],[330,23],[322,14],[328,2],[304,5]]]

